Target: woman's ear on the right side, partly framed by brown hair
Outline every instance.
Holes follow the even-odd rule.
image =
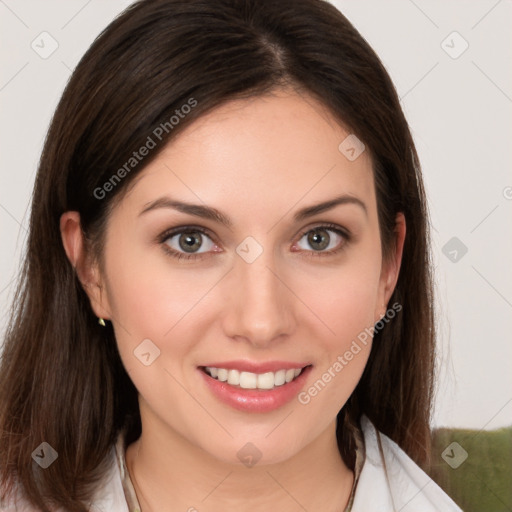
[[[389,261],[383,261],[379,281],[377,304],[375,305],[375,322],[379,321],[386,313],[386,305],[395,290],[402,263],[404,240],[406,233],[405,216],[399,212],[395,218],[395,242],[394,250]]]

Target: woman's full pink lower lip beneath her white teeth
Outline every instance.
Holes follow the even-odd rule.
[[[200,368],[198,371],[203,376],[206,385],[221,402],[239,411],[270,412],[283,407],[299,394],[311,368],[311,366],[307,366],[296,379],[267,390],[234,387],[227,382],[220,382],[210,377]]]

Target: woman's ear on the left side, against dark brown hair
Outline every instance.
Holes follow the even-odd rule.
[[[110,320],[110,306],[106,293],[102,293],[104,285],[100,270],[94,258],[87,253],[78,212],[69,211],[61,215],[60,234],[68,260],[89,297],[94,313],[100,318]]]

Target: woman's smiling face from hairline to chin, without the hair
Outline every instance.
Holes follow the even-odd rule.
[[[399,265],[383,265],[371,161],[349,135],[279,91],[202,117],[136,178],[91,298],[143,432],[231,463],[244,446],[273,463],[334,433]]]

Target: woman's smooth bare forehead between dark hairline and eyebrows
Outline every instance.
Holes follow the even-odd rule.
[[[371,158],[367,151],[347,158],[347,137],[354,136],[304,94],[231,101],[168,143],[137,176],[130,201],[143,206],[168,193],[223,210],[274,208],[275,215],[346,193],[371,208]]]

